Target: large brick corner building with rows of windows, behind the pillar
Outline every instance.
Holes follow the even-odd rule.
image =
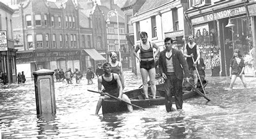
[[[90,27],[82,27],[81,33],[76,4],[71,0],[65,3],[29,0],[12,7],[18,72],[24,71],[26,77],[32,77],[32,72],[40,68],[85,69],[89,54],[81,38],[85,35],[91,38],[92,32]]]

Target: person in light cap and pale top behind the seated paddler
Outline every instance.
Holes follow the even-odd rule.
[[[124,74],[123,74],[123,66],[120,61],[117,61],[117,54],[115,52],[110,53],[110,58],[111,58],[111,72],[112,73],[117,73],[119,75],[119,78],[122,83],[122,87],[124,89]]]

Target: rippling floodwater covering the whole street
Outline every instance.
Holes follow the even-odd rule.
[[[125,72],[125,90],[142,84],[141,78]],[[234,90],[225,91],[230,80],[207,77],[206,95],[184,101],[183,110],[167,113],[156,106],[132,113],[93,115],[99,94],[97,80],[87,85],[55,82],[57,113],[36,115],[33,81],[10,85],[0,90],[0,126],[2,138],[43,137],[172,137],[172,138],[255,138],[256,79],[246,78],[248,88],[237,79]],[[74,79],[73,79],[74,81]],[[173,105],[174,106],[174,105]],[[100,113],[101,110],[100,110]]]

